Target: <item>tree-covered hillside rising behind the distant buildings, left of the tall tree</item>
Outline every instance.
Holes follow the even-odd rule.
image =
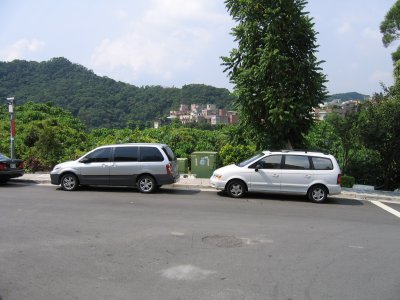
[[[216,104],[232,108],[227,90],[201,84],[182,88],[137,87],[100,77],[65,58],[45,62],[0,62],[0,97],[17,104],[52,102],[70,110],[88,128],[123,128],[169,115],[179,104]]]

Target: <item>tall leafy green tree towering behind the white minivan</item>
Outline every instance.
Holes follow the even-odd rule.
[[[299,147],[326,96],[316,32],[303,0],[226,0],[238,48],[222,57],[241,123],[258,148]]]

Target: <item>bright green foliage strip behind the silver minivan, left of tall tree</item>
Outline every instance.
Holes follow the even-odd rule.
[[[7,106],[1,105],[0,109],[0,152],[9,154],[10,122]],[[75,159],[97,146],[116,143],[165,143],[174,149],[178,157],[190,158],[194,151],[220,152],[230,143],[240,141],[236,144],[241,150],[240,154],[230,155],[229,162],[237,162],[254,152],[254,147],[243,146],[251,143],[240,136],[236,126],[203,130],[172,123],[159,129],[99,128],[87,132],[83,123],[67,110],[51,103],[32,102],[16,106],[15,115],[16,156],[22,158],[31,171],[50,170],[55,164]]]

